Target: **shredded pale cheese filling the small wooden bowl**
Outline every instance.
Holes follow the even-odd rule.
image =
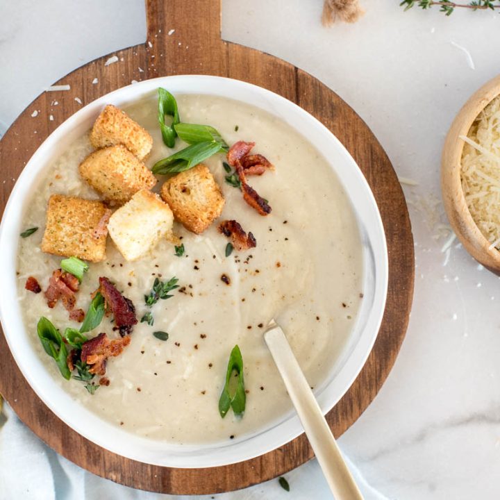
[[[500,97],[472,124],[462,152],[462,189],[479,230],[500,249]]]

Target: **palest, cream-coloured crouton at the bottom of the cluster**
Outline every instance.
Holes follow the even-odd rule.
[[[111,216],[108,231],[122,256],[136,260],[172,231],[172,224],[172,210],[158,194],[140,190]]]

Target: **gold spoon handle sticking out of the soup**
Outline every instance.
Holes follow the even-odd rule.
[[[322,410],[310,390],[290,344],[280,326],[272,324],[264,334],[274,363],[283,378],[295,410],[315,452],[323,474],[336,500],[363,500],[358,486],[347,467]]]

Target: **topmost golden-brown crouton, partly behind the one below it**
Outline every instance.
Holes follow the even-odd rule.
[[[123,144],[140,160],[153,147],[153,138],[121,109],[108,104],[90,131],[90,142],[96,149]]]

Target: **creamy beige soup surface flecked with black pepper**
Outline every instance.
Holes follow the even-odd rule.
[[[156,277],[176,276],[181,288],[174,297],[153,306],[154,325],[139,323],[131,344],[108,360],[108,387],[94,394],[81,382],[66,381],[43,351],[36,325],[48,317],[63,331],[79,328],[68,319],[61,303],[47,307],[44,294],[24,290],[28,276],[42,290],[60,267],[60,257],[40,250],[47,201],[51,194],[99,199],[80,178],[78,165],[92,151],[88,135],[77,140],[51,165],[33,188],[24,226],[40,230],[19,240],[19,301],[35,349],[74,399],[117,426],[155,440],[173,443],[219,442],[253,433],[282,419],[292,404],[263,340],[273,317],[281,324],[311,386],[326,380],[346,344],[363,297],[362,247],[353,210],[338,178],[322,155],[280,119],[244,103],[208,95],[178,95],[183,122],[210,124],[228,144],[256,142],[276,167],[249,184],[269,200],[272,213],[262,217],[244,203],[238,188],[224,181],[226,172],[218,154],[204,162],[226,199],[220,220],[236,219],[257,240],[256,248],[233,251],[226,257],[227,238],[217,222],[195,235],[180,224],[174,232],[183,238],[185,254],[163,240],[135,262],[126,262],[108,238],[107,258],[91,263],[77,307],[87,310],[99,276],[107,276],[135,304],[138,318],[147,312],[144,294]],[[157,122],[156,95],[128,108],[128,115],[151,133],[153,150],[148,167],[172,154],[162,141]],[[180,140],[175,149],[185,147]],[[159,191],[162,181],[154,188]],[[227,285],[221,276],[231,283]],[[166,341],[154,331],[169,334]],[[109,318],[90,336],[106,332],[117,338]],[[230,410],[222,419],[218,401],[231,349],[238,344],[244,363],[247,405],[243,417]]]

